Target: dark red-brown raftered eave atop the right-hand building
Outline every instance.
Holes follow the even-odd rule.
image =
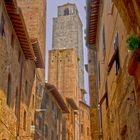
[[[86,44],[96,43],[100,0],[87,0],[87,37]]]

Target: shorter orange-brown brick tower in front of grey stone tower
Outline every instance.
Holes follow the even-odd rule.
[[[49,51],[48,81],[54,84],[63,97],[78,103],[77,58],[74,48]]]

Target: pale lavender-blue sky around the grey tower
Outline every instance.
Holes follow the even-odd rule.
[[[52,48],[52,18],[57,16],[57,6],[63,5],[65,3],[75,3],[78,11],[80,18],[83,23],[83,32],[86,28],[86,12],[85,12],[85,5],[86,5],[86,0],[48,0],[47,1],[47,35],[46,35],[46,79],[48,76],[48,70],[47,70],[47,65],[48,65],[48,50],[51,50]],[[85,40],[84,40],[84,34],[83,34],[83,47],[84,47],[84,63],[87,64],[87,48],[85,46]],[[85,89],[88,92],[88,75],[85,72]],[[86,101],[89,102],[89,95],[86,95]]]

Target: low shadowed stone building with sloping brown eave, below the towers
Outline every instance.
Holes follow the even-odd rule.
[[[68,107],[55,86],[45,83],[41,106],[35,114],[35,140],[62,140],[62,115]]]

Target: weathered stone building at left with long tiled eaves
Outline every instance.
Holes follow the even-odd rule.
[[[35,75],[37,69],[44,68],[38,41],[30,38],[23,10],[19,8],[18,2],[20,1],[0,1],[2,140],[33,139],[31,127],[34,125],[35,113]],[[42,27],[45,29],[44,26]]]

